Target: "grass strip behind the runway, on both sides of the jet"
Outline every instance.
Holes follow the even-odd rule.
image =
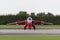
[[[0,25],[0,28],[23,28],[24,25]],[[60,28],[60,25],[36,25],[36,28]]]

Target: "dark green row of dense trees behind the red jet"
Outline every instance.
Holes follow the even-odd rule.
[[[60,16],[55,16],[50,12],[48,12],[48,14],[45,14],[45,12],[40,12],[37,13],[37,15],[32,12],[31,15],[29,15],[25,11],[20,11],[16,15],[0,15],[0,24],[7,24],[9,22],[25,20],[28,16],[31,16],[34,20],[43,20],[46,22],[52,22],[54,24],[60,24]]]

